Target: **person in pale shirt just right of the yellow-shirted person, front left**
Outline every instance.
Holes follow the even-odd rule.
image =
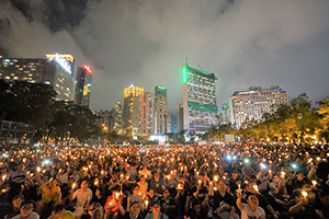
[[[88,187],[88,182],[86,180],[81,182],[80,188],[73,193],[71,201],[75,198],[77,198],[77,207],[73,215],[77,219],[80,219],[83,214],[87,214],[87,209],[92,198],[92,192]]]

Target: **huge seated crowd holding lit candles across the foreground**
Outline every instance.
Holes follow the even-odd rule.
[[[12,148],[5,219],[328,219],[329,148],[306,143]]]

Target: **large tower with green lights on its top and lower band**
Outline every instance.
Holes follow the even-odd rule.
[[[217,125],[214,73],[183,66],[183,129],[205,132]]]

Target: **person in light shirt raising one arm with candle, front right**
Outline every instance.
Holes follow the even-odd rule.
[[[248,204],[242,204],[242,193],[241,189],[237,192],[237,206],[241,211],[241,219],[257,218],[257,219],[265,219],[265,211],[259,207],[258,198],[252,193],[247,193],[246,200]]]

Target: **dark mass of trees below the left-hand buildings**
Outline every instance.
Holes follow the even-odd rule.
[[[99,135],[95,115],[72,102],[55,101],[56,91],[48,84],[0,80],[0,120],[32,125],[34,141],[45,137],[55,142],[82,142]]]

